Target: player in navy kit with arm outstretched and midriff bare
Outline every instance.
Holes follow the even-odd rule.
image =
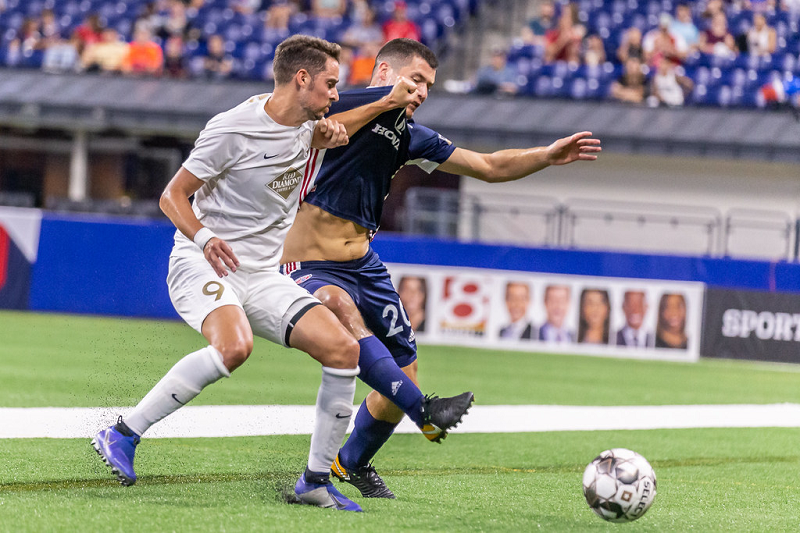
[[[391,179],[402,166],[416,164],[427,172],[438,167],[488,182],[511,181],[550,165],[594,160],[600,141],[581,132],[547,147],[491,154],[457,148],[410,120],[434,83],[438,61],[433,52],[419,42],[395,39],[381,49],[375,65],[372,87],[342,93],[331,116],[380,98],[399,77],[416,83],[417,98],[405,110],[378,116],[352,135],[348,146],[313,151],[281,263],[358,340],[359,378],[375,389],[359,408],[331,471],[365,497],[394,498],[370,460],[403,414],[439,442],[469,409],[473,395],[431,398],[417,386],[414,332],[386,268],[369,246]]]

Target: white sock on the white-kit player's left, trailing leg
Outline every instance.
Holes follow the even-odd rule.
[[[150,426],[189,403],[203,388],[230,375],[222,354],[213,346],[192,352],[170,368],[125,417],[125,423],[142,435]]]

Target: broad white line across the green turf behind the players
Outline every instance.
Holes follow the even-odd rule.
[[[131,407],[0,408],[0,438],[86,438]],[[148,438],[310,434],[314,407],[300,405],[188,406],[162,420]],[[582,407],[480,405],[452,433],[521,433],[668,428],[800,427],[800,405],[664,405]],[[352,422],[350,426],[352,430]],[[418,429],[404,419],[398,433]]]

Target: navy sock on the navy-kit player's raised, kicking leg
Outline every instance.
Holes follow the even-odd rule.
[[[361,347],[358,358],[361,381],[386,396],[422,427],[422,400],[425,396],[419,387],[397,366],[392,354],[374,335],[361,339],[358,344]]]

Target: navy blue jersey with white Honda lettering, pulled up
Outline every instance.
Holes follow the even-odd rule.
[[[374,102],[391,90],[372,87],[343,92],[328,115]],[[358,130],[349,144],[313,150],[301,200],[377,231],[397,171],[414,164],[430,173],[454,150],[453,143],[435,131],[406,120],[405,109],[393,109]]]

